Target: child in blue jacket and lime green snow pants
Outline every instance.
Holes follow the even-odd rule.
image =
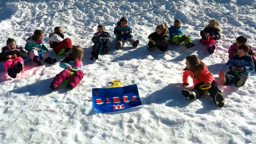
[[[166,23],[165,26],[167,27]],[[169,27],[169,38],[171,40],[171,43],[181,44],[184,42],[186,48],[195,46],[195,43],[192,43],[190,37],[188,37],[187,35],[182,35],[180,19],[175,19],[174,25]]]

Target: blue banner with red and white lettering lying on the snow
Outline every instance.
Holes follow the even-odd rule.
[[[142,107],[137,84],[119,88],[93,88],[93,108],[100,113]]]

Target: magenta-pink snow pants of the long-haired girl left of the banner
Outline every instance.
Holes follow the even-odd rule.
[[[51,82],[51,85],[54,85],[56,88],[58,88],[59,85],[65,79],[69,79],[70,76],[71,76],[71,73],[68,71],[68,69],[64,69],[54,77],[53,81]],[[75,71],[70,81],[68,82],[68,84],[73,85],[73,87],[75,88],[79,84],[79,82],[82,80],[83,77],[84,77],[84,73],[81,70]]]

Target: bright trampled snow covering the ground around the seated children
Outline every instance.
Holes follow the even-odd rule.
[[[38,0],[45,2],[44,0]],[[37,2],[38,2],[37,1]],[[34,2],[34,1],[33,1]],[[255,0],[49,0],[43,4],[0,2],[0,47],[8,37],[25,46],[35,29],[45,32],[44,44],[55,26],[62,26],[73,43],[84,47],[85,76],[72,91],[51,91],[49,84],[62,71],[59,63],[37,66],[29,60],[18,79],[10,79],[0,67],[0,143],[48,144],[244,144],[256,143],[256,73],[243,87],[223,86],[219,71],[228,71],[228,48],[239,35],[256,50]],[[245,5],[248,4],[248,5]],[[108,55],[91,61],[91,37],[97,25],[113,29],[126,16],[137,49],[120,51],[112,43]],[[172,44],[170,51],[147,50],[147,37],[159,24],[181,19],[182,30],[196,46],[186,49]],[[199,31],[216,18],[223,35],[212,55],[199,43]],[[115,41],[114,41],[115,42]],[[51,51],[53,57],[57,57]],[[198,54],[218,81],[225,107],[218,108],[210,96],[189,101],[181,94],[185,57]],[[92,88],[103,88],[111,80],[137,84],[144,107],[128,113],[100,114],[92,109]],[[192,87],[192,80],[190,79]],[[60,101],[55,103],[54,100]]]

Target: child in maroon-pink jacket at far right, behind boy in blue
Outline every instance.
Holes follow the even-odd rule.
[[[231,59],[235,55],[235,53],[237,53],[237,48],[241,44],[246,44],[247,38],[244,37],[243,35],[241,35],[241,36],[237,37],[237,39],[235,41],[236,42],[233,43],[230,46],[230,49],[228,49],[228,59]],[[250,47],[249,54],[252,55],[253,63],[254,63],[254,66],[255,66],[256,65],[256,58],[255,58],[255,53],[252,50],[252,47]],[[255,71],[256,71],[256,69],[255,69]]]

